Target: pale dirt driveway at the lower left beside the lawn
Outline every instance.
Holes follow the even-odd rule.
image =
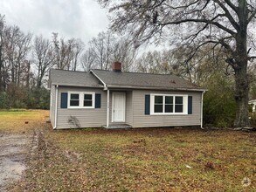
[[[0,134],[0,191],[21,179],[31,137],[28,134]]]

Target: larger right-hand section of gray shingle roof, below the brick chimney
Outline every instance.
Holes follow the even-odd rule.
[[[203,88],[175,75],[149,74],[139,72],[112,72],[91,70],[108,87],[131,87],[173,90],[198,90]]]

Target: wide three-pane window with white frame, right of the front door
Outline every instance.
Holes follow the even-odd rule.
[[[187,114],[187,95],[151,94],[150,114]]]

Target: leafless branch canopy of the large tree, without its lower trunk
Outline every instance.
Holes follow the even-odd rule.
[[[99,2],[109,9],[112,29],[128,32],[137,45],[152,38],[156,42],[168,39],[177,45],[215,44],[230,51],[232,58],[238,52],[236,42],[256,20],[253,0]]]

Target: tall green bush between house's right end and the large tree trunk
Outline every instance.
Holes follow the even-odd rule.
[[[237,107],[232,80],[216,73],[204,86],[204,126],[232,127]]]

